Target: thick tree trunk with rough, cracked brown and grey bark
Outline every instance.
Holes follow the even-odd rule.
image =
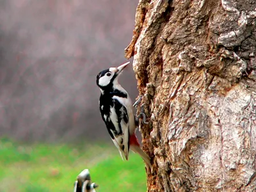
[[[125,56],[149,122],[148,191],[256,191],[255,22],[254,0],[138,4]]]

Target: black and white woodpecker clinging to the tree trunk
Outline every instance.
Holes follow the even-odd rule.
[[[108,132],[120,152],[122,159],[128,160],[129,149],[138,153],[150,166],[150,158],[140,148],[136,137],[136,118],[132,111],[132,101],[124,88],[118,83],[118,77],[130,62],[119,67],[102,70],[97,76],[100,88],[99,107]]]

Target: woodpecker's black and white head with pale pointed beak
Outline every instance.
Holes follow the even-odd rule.
[[[106,90],[113,87],[118,83],[118,77],[124,70],[124,68],[129,65],[130,62],[124,63],[118,67],[110,67],[106,70],[102,70],[97,75],[96,83],[101,90]]]

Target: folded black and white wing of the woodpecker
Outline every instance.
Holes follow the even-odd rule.
[[[127,109],[118,99],[113,99],[113,107],[110,108],[109,118],[113,134],[113,143],[118,148],[122,159],[128,159],[129,156],[129,116]]]

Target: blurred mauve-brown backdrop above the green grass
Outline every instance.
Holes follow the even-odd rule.
[[[124,63],[138,1],[1,0],[0,136],[24,141],[109,140],[100,70]],[[120,83],[134,100],[130,67]]]

